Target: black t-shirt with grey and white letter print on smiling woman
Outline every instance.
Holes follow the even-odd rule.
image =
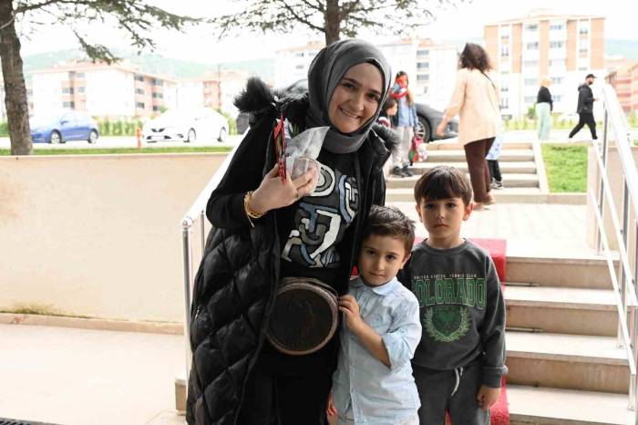
[[[282,276],[315,277],[331,285],[341,258],[338,244],[359,210],[356,152],[322,150],[314,192],[278,215]],[[292,227],[291,227],[292,224]]]

